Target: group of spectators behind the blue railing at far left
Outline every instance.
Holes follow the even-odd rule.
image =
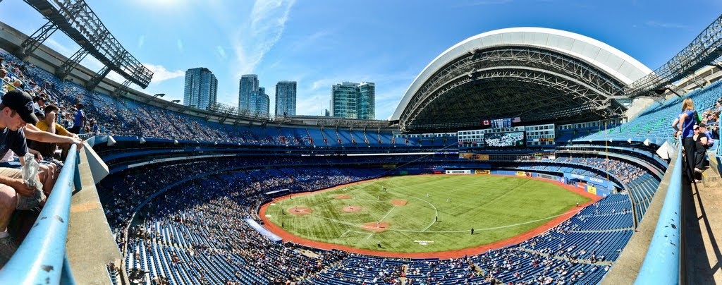
[[[76,110],[46,105],[53,103],[45,97],[47,84],[26,76],[27,69],[27,63],[0,54],[0,268],[17,250],[15,240],[24,238],[25,230],[20,222],[11,223],[12,216],[30,217],[45,204],[63,166],[58,159],[71,144],[82,145],[79,136],[59,124],[60,114]],[[74,122],[86,119],[77,111]],[[56,152],[58,146],[64,152]]]

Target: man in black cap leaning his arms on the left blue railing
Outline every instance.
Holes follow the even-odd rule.
[[[62,142],[82,145],[82,141],[70,136],[58,136],[40,131],[34,125],[38,118],[32,112],[32,97],[27,92],[12,90],[0,102],[0,153],[8,149],[20,157],[27,153],[25,138],[43,142]],[[0,168],[0,268],[17,249],[9,237],[7,226],[14,209],[33,209],[45,202],[45,194],[22,180],[20,170]]]

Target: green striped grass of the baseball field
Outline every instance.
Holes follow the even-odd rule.
[[[343,194],[353,198],[334,198]],[[394,206],[393,200],[407,203]],[[308,240],[368,250],[428,253],[514,237],[549,222],[576,203],[588,201],[591,199],[560,186],[525,177],[419,175],[295,196],[269,205],[266,216],[287,232]],[[362,210],[344,212],[342,209],[349,205]],[[313,213],[290,214],[295,206]],[[363,224],[375,227],[378,221],[388,222],[388,229],[362,229]],[[383,248],[378,248],[377,242]]]

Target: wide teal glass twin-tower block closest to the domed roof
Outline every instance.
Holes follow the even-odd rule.
[[[373,120],[376,88],[373,82],[342,82],[331,88],[331,116]]]

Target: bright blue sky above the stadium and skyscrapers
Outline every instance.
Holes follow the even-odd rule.
[[[142,90],[147,94],[182,100],[185,71],[203,66],[217,76],[219,102],[238,105],[238,79],[258,74],[271,97],[271,113],[276,83],[295,80],[296,113],[319,115],[329,108],[332,84],[366,81],[376,84],[378,119],[393,113],[433,58],[482,32],[525,26],[567,30],[656,69],[722,12],[719,0],[86,2],[126,50],[155,72]],[[0,21],[27,35],[45,23],[22,0],[1,1]],[[45,44],[65,56],[78,48],[61,32]],[[90,56],[82,64],[102,68]]]

